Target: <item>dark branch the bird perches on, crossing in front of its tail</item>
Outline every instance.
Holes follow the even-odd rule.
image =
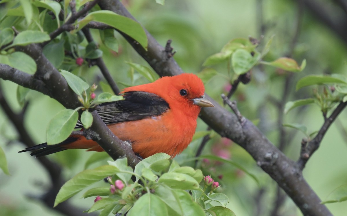
[[[37,71],[34,77],[39,79],[46,86],[49,91],[49,94],[47,95],[56,99],[62,105],[70,109],[75,109],[76,107],[82,106],[82,104],[78,101],[77,95],[68,86],[64,77],[42,54],[42,49],[39,45],[31,44],[25,47],[18,46],[16,49],[23,51],[35,60]],[[4,74],[0,73],[0,78],[3,78],[3,76],[5,76]],[[10,78],[8,78],[8,80],[12,81]],[[25,85],[29,86],[28,84]],[[39,89],[42,88],[42,86],[39,87]],[[46,92],[42,93],[45,94]],[[126,155],[129,165],[134,168],[136,163],[139,162],[139,159],[132,151],[131,146],[129,146],[127,142],[122,142],[119,140],[101,121],[100,117],[98,117],[99,115],[95,111],[92,114],[93,124],[90,130],[91,138],[95,139],[95,141],[98,142],[98,144],[113,159],[124,157]]]

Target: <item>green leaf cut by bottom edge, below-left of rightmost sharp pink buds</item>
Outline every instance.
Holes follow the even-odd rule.
[[[205,215],[204,209],[196,203],[192,196],[188,194],[188,192],[184,190],[174,190],[177,194],[177,200],[179,200],[179,204],[182,207],[182,211],[184,216],[202,216]]]

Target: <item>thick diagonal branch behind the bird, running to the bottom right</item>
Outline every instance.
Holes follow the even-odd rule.
[[[99,5],[103,10],[111,10],[134,19],[118,0],[101,0]],[[147,51],[132,38],[125,34],[122,35],[160,76],[182,73],[182,69],[176,61],[173,58],[166,58],[164,48],[147,31],[146,34],[148,38]],[[212,100],[209,97],[208,99]],[[247,150],[257,161],[257,164],[276,180],[279,186],[294,200],[304,215],[331,215],[329,210],[320,204],[321,200],[307,184],[294,161],[288,159],[274,147],[251,121],[245,119],[243,126],[241,126],[234,114],[227,112],[217,102],[214,104],[214,108],[202,109],[201,111],[201,118],[213,130]]]

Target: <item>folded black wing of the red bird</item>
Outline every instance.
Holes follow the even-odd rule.
[[[169,104],[160,96],[148,92],[126,92],[124,100],[102,103],[96,112],[105,124],[141,120],[160,115],[169,109]],[[75,128],[83,128],[80,121]]]

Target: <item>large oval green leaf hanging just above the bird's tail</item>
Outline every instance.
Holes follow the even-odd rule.
[[[51,119],[47,127],[47,144],[60,143],[69,137],[78,120],[76,110],[65,109]]]

